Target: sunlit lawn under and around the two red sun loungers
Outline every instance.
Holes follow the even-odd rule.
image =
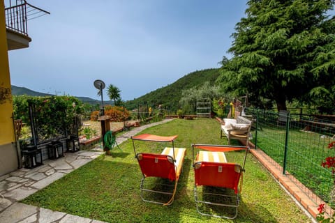
[[[120,145],[122,151],[114,150],[111,156],[101,155],[22,202],[104,222],[309,222],[308,217],[251,154],[246,161],[237,218],[219,220],[199,215],[193,195],[191,144],[226,144],[226,139],[219,137],[218,123],[206,118],[193,121],[177,119],[144,132],[178,134],[175,146],[188,149],[171,206],[140,199],[142,174],[134,158],[131,140]],[[141,141],[136,141],[135,145],[144,152],[159,152],[164,146],[170,146]],[[227,158],[231,162],[241,162],[243,156],[244,153],[232,152]]]

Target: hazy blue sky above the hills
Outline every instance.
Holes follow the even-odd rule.
[[[218,68],[246,10],[246,0],[28,2],[51,14],[29,20],[29,48],[8,53],[11,84],[97,100],[96,79],[133,100]]]

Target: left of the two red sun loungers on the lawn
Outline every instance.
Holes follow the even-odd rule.
[[[140,134],[131,137],[131,139],[133,139],[135,158],[137,159],[138,164],[140,164],[143,176],[140,184],[140,196],[143,201],[163,204],[164,206],[171,205],[174,201],[174,195],[177,191],[177,183],[186,155],[186,148],[174,147],[174,139],[176,138],[177,135],[161,137],[154,134]],[[165,147],[161,154],[137,153],[135,140],[172,142],[172,147]],[[147,178],[156,178],[158,180],[154,182],[154,186],[152,184],[147,185],[145,184]],[[165,179],[168,179],[167,183],[160,183]],[[158,194],[163,195],[163,197],[158,196]]]

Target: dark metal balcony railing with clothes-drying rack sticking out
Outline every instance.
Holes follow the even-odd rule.
[[[32,6],[24,0],[16,0],[15,3],[15,6],[12,6],[12,2],[9,1],[9,7],[5,8],[6,29],[24,36],[28,36],[28,20],[34,20],[37,17],[50,14],[41,8]]]

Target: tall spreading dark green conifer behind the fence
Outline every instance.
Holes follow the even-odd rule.
[[[235,26],[232,59],[218,82],[225,91],[268,98],[278,110],[335,83],[333,0],[251,0]],[[332,84],[332,86],[330,86]]]

